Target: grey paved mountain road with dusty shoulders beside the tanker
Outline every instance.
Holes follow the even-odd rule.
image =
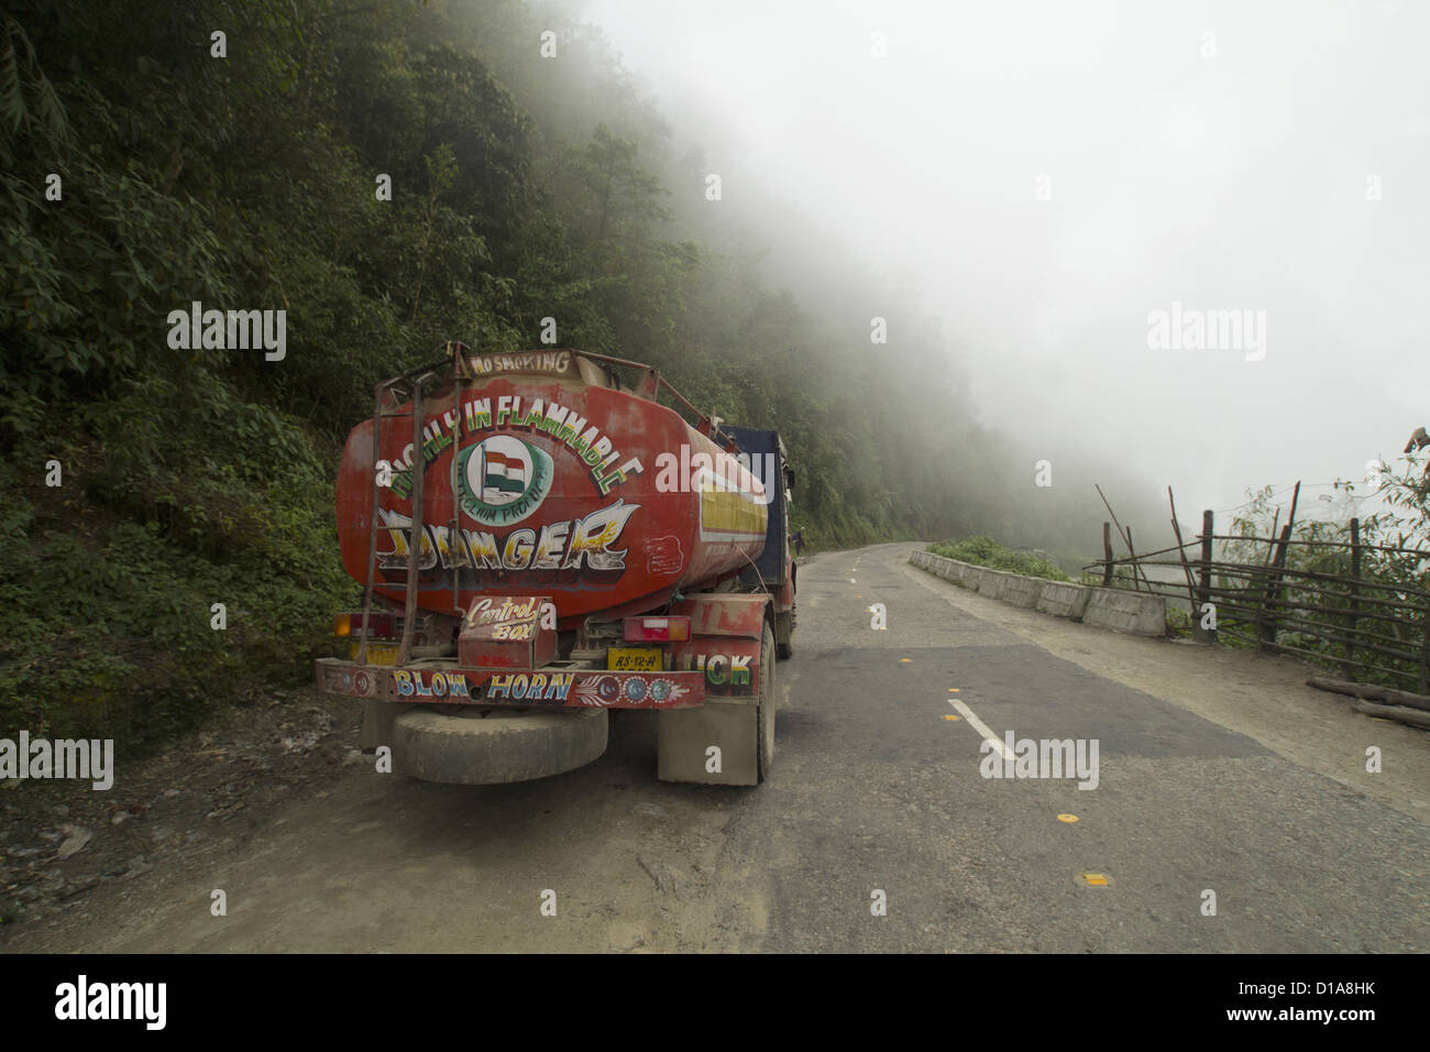
[[[73,948],[1430,949],[1421,731],[1291,697],[1276,684],[1294,673],[1274,661],[1008,620],[909,567],[909,548],[804,568],[764,787],[656,781],[645,713],[613,717],[598,763],[538,783],[349,769],[243,854],[96,900]],[[1128,686],[1155,678],[1138,668],[1161,670],[1160,696]],[[1216,677],[1240,678],[1214,690]],[[1320,704],[1296,720],[1301,739],[1271,720]],[[984,777],[978,723],[1000,739],[1095,740],[1097,787]],[[1363,740],[1387,743],[1383,776],[1360,769]],[[214,887],[226,917],[209,913]],[[555,916],[541,910],[548,889]]]

